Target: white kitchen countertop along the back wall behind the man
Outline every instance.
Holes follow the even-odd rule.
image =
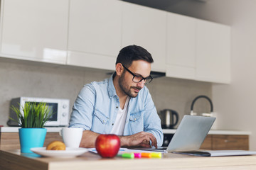
[[[20,127],[1,127],[0,132],[18,132]],[[63,127],[47,127],[47,132],[59,132]],[[174,134],[176,129],[164,129],[165,134]],[[250,131],[242,130],[210,130],[208,135],[251,135]]]

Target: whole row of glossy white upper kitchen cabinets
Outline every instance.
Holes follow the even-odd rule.
[[[0,56],[114,70],[140,45],[166,77],[230,83],[230,27],[117,0],[2,0]]]

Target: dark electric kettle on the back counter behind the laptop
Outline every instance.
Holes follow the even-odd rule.
[[[160,111],[161,127],[165,129],[173,129],[178,123],[178,113],[171,109]]]

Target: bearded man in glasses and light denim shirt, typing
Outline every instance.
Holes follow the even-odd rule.
[[[159,147],[161,121],[149,90],[151,54],[130,45],[120,50],[110,79],[86,84],[76,99],[69,127],[83,128],[80,147],[95,147],[100,134],[119,135],[121,147]]]

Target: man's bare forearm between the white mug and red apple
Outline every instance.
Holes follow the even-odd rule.
[[[90,130],[84,130],[82,132],[82,140],[80,142],[80,147],[95,147],[95,141],[99,133],[92,132]]]

